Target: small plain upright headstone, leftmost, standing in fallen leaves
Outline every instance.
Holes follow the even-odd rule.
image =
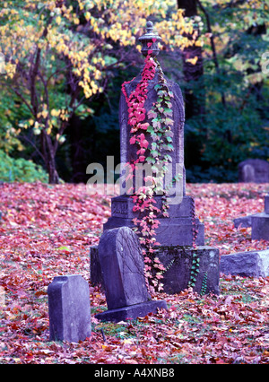
[[[50,341],[78,343],[91,335],[88,282],[81,275],[56,276],[48,285]]]

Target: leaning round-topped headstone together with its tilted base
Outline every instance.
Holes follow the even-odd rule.
[[[98,251],[108,304],[107,311],[96,315],[98,319],[117,322],[167,308],[165,301],[151,300],[147,291],[142,248],[133,230],[106,230]]]

